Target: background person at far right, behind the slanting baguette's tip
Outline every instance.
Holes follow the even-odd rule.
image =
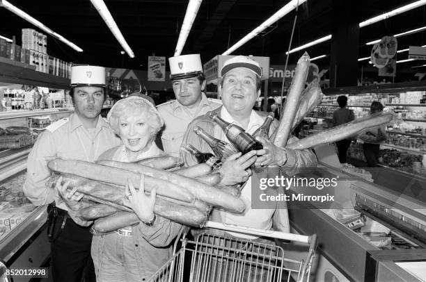
[[[373,101],[370,106],[370,114],[379,113],[383,110],[383,105],[378,101]],[[380,144],[387,138],[386,126],[378,126],[361,132],[358,138],[364,141],[363,151],[368,167],[377,167],[379,163]]]

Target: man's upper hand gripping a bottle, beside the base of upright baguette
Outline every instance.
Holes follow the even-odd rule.
[[[257,151],[258,159],[255,162],[256,167],[282,166],[287,162],[287,152],[284,148],[276,147],[266,138],[258,136],[256,140],[263,145],[263,149]]]

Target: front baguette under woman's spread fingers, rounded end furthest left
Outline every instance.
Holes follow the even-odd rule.
[[[47,166],[54,172],[74,174],[75,176],[81,176],[85,179],[101,181],[104,183],[127,186],[128,181],[131,181],[136,189],[139,187],[141,177],[140,174],[136,172],[130,172],[116,167],[107,167],[105,165],[95,163],[88,163],[83,160],[64,160],[62,158],[55,158],[54,160],[49,161]],[[150,192],[152,188],[157,188],[157,194],[161,194],[166,197],[178,199],[180,201],[194,201],[194,196],[185,188],[182,188],[175,183],[146,176],[145,191]]]

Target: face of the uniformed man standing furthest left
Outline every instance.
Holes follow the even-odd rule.
[[[100,115],[104,104],[104,89],[93,86],[74,88],[72,95],[75,113],[81,119],[95,119]]]

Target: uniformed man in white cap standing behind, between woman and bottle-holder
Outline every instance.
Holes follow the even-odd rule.
[[[180,144],[189,122],[221,106],[216,99],[207,99],[205,76],[199,54],[168,58],[170,78],[176,100],[159,105],[158,111],[164,119],[161,143],[167,154],[179,156]]]

